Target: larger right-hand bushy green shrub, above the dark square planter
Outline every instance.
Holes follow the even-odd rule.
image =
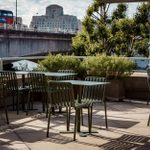
[[[103,54],[88,56],[82,62],[82,66],[89,75],[118,79],[131,75],[134,63],[125,57],[106,56]]]

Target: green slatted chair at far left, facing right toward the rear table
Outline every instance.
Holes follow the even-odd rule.
[[[19,106],[20,106],[20,95],[23,95],[24,92],[28,92],[27,87],[21,87],[18,85],[17,75],[13,71],[0,71],[1,81],[5,85],[6,96],[12,96],[13,101],[13,110],[17,109],[17,114],[19,114]],[[16,102],[15,102],[16,97]],[[24,99],[24,98],[23,98]],[[22,100],[23,100],[22,99]],[[22,102],[22,107],[24,107],[24,102]]]

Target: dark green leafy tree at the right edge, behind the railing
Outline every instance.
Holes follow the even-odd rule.
[[[121,12],[121,8],[122,14],[119,15],[118,10]],[[124,11],[126,11],[125,7],[118,5],[112,15],[111,27],[114,37],[112,41],[114,43],[114,53],[126,56],[134,56],[136,53],[148,56],[148,33],[150,32],[148,13],[150,12],[150,3],[143,3],[139,6],[135,17],[130,19],[123,15],[125,14]]]

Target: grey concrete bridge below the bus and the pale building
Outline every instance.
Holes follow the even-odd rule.
[[[70,52],[73,34],[0,30],[0,58]]]

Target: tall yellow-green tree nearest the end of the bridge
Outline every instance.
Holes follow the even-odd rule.
[[[80,54],[86,55],[108,51],[110,37],[110,30],[107,26],[108,8],[109,4],[101,3],[100,0],[94,0],[93,4],[89,6],[82,23],[82,31],[73,38],[72,46],[75,51],[80,51]]]

